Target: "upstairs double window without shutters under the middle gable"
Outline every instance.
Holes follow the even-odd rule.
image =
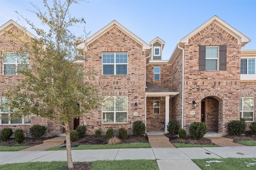
[[[127,75],[127,53],[102,53],[103,75]]]

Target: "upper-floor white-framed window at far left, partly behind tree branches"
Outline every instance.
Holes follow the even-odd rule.
[[[20,75],[19,70],[28,69],[28,53],[16,54],[14,52],[4,53],[3,74]]]

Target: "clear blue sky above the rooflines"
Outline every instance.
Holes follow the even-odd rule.
[[[0,0],[0,25],[10,19],[22,25],[17,11],[41,27],[36,15],[28,11],[34,10],[30,2],[45,11],[42,0]],[[89,0],[73,6],[70,14],[85,18],[90,35],[116,20],[146,43],[160,37],[166,42],[163,59],[169,59],[180,39],[214,15],[252,39],[244,49],[256,49],[256,0]],[[71,30],[80,36],[84,25]]]

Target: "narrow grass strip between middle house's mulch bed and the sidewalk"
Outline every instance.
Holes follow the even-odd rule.
[[[71,150],[86,150],[86,149],[126,149],[126,148],[150,148],[149,143],[122,143],[116,145],[79,145],[71,147]],[[66,150],[66,148],[52,147],[46,150]]]

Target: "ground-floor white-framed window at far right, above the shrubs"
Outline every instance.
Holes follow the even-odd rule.
[[[254,97],[240,98],[240,118],[254,121]]]

